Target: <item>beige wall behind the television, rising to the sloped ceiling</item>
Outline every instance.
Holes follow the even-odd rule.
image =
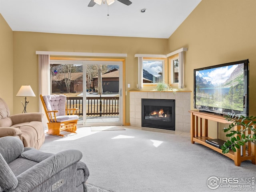
[[[256,1],[202,0],[169,38],[169,52],[188,47],[186,88],[193,90],[193,70],[236,60],[250,61],[249,114],[256,115]],[[193,95],[191,109],[193,108]],[[225,139],[219,124],[209,125],[209,136]]]

